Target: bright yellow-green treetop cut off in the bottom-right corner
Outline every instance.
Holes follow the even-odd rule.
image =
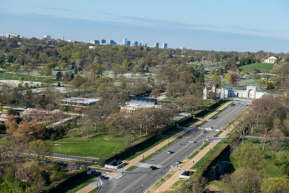
[[[289,180],[284,178],[265,179],[261,185],[262,193],[287,193]]]

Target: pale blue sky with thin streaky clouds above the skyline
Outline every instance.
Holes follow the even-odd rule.
[[[287,53],[288,5],[287,0],[10,0],[0,3],[0,34]]]

